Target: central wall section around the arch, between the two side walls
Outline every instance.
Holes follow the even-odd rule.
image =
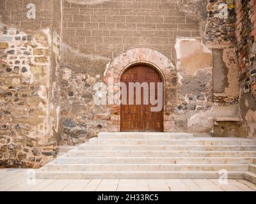
[[[135,47],[159,50],[175,65],[177,91],[166,101],[173,112],[164,130],[218,136],[215,120],[239,117],[235,22],[234,1],[64,1],[61,143],[118,130],[118,111],[93,103],[93,85],[118,53]],[[214,86],[221,87],[212,95]]]

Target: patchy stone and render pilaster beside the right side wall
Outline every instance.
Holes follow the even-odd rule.
[[[218,136],[246,135],[240,126],[235,1],[210,0],[205,44],[212,50],[212,103],[206,116]],[[201,115],[202,116],[202,115]]]

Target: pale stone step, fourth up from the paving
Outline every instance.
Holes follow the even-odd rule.
[[[70,157],[256,157],[256,151],[70,150]]]

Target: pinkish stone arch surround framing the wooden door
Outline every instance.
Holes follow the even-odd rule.
[[[107,66],[104,73],[104,82],[109,78],[114,83],[120,82],[124,71],[136,64],[147,64],[157,69],[163,78],[164,85],[164,132],[172,131],[171,120],[177,101],[177,71],[168,57],[162,52],[149,47],[135,47],[118,54]],[[109,131],[120,131],[120,106],[109,105],[111,117]]]

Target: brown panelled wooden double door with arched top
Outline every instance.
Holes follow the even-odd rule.
[[[155,83],[155,98],[157,99],[157,82],[162,82],[157,71],[150,66],[139,64],[127,69],[121,78],[127,87],[127,102],[129,101],[129,82]],[[163,91],[162,97],[163,97]],[[159,112],[152,112],[150,99],[148,105],[143,103],[143,88],[141,88],[141,105],[136,105],[136,89],[134,89],[134,105],[122,104],[120,106],[120,131],[122,132],[162,132],[163,131],[163,108]],[[148,94],[149,96],[149,94]],[[163,101],[162,101],[163,103]],[[154,105],[157,106],[157,105]],[[162,105],[163,107],[163,105]]]

